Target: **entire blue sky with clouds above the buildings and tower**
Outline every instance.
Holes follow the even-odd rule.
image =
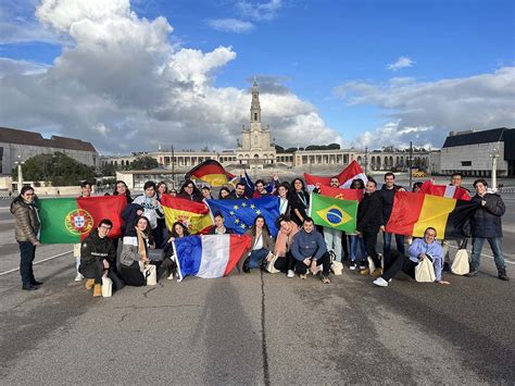
[[[233,149],[250,86],[278,145],[441,147],[515,126],[511,0],[3,0],[0,125],[101,153]]]

